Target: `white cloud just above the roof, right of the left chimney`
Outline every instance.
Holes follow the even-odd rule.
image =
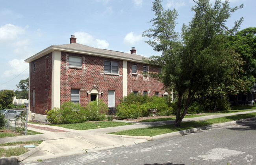
[[[106,40],[96,39],[94,36],[85,32],[75,32],[76,42],[79,44],[90,45],[100,49],[108,49],[109,43]]]

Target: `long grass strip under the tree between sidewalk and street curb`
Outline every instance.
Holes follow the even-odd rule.
[[[173,125],[163,125],[158,127],[148,127],[148,128],[139,128],[139,129],[130,129],[125,131],[111,132],[110,134],[118,135],[131,135],[131,136],[155,136],[160,134],[166,134],[170,132],[182,131],[186,129],[192,129],[207,125],[212,125],[216,123],[224,123],[228,121],[234,121],[245,118],[252,118],[256,116],[256,112],[248,114],[238,114],[234,116],[226,116],[221,118],[209,119],[207,121],[192,121],[185,122],[180,124],[180,128],[174,128]]]

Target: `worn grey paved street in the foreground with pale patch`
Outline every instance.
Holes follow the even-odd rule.
[[[255,165],[256,120],[20,165]]]

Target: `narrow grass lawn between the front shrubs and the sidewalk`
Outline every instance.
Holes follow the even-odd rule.
[[[97,129],[106,127],[116,127],[122,125],[132,125],[132,123],[116,122],[116,121],[93,121],[85,123],[74,123],[74,124],[51,124],[52,126],[58,126],[68,129],[76,130],[87,130],[87,129]]]

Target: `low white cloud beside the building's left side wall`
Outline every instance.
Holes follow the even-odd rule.
[[[13,59],[8,62],[10,70],[4,71],[1,75],[2,78],[9,78],[13,76],[18,76],[20,73],[21,76],[27,75],[28,76],[28,63],[25,63],[23,59]],[[27,70],[26,70],[27,69]],[[26,70],[26,71],[25,71]]]

